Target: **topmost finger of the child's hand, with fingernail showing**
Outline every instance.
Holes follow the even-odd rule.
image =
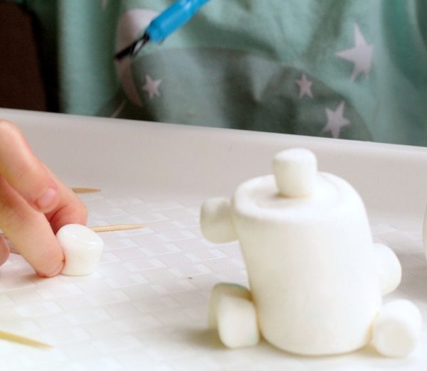
[[[44,213],[59,200],[58,188],[21,131],[0,120],[0,174],[31,207]]]

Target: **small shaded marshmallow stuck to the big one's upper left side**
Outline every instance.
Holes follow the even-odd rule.
[[[204,237],[211,242],[225,243],[236,240],[230,200],[223,197],[206,200],[201,205],[200,227]]]

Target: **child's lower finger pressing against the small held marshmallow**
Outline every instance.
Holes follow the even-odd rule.
[[[40,276],[56,276],[64,262],[46,216],[32,208],[0,176],[0,228]]]

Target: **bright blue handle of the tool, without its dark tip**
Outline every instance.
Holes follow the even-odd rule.
[[[152,43],[159,43],[188,22],[209,0],[179,0],[149,23],[145,33]]]

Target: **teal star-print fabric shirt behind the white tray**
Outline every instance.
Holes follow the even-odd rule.
[[[20,1],[60,112],[427,145],[423,0],[211,0],[115,51],[170,0]]]

